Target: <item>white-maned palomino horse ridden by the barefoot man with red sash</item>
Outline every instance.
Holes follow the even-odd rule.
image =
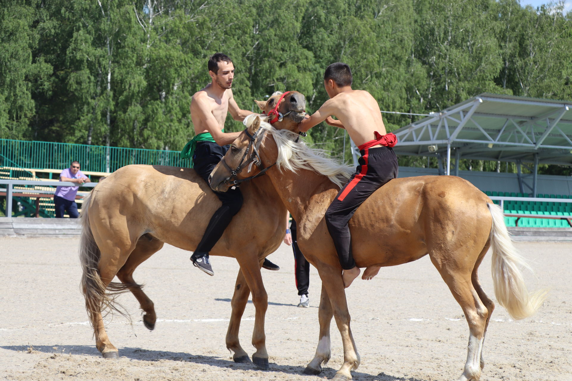
[[[260,103],[259,103],[260,105]],[[263,108],[265,105],[261,105]],[[287,108],[288,105],[284,105]],[[284,112],[284,110],[283,110]],[[259,169],[232,176],[225,167],[238,167],[252,137],[262,139],[260,160],[272,186],[298,223],[298,244],[322,280],[319,308],[320,338],[316,355],[305,372],[318,374],[329,360],[332,315],[340,330],[344,363],[335,380],[351,379],[360,363],[349,328],[341,267],[324,222],[324,214],[339,191],[341,179],[352,172],[297,142],[297,129],[276,130],[260,119],[233,143],[235,150],[211,174],[213,189],[228,189],[233,178],[255,175]],[[349,222],[353,256],[358,267],[395,266],[429,255],[453,296],[463,308],[469,326],[467,362],[459,380],[478,381],[484,366],[482,347],[494,304],[479,284],[477,270],[492,246],[495,295],[515,319],[533,314],[543,292],[529,295],[502,211],[471,183],[454,176],[393,179],[358,208]]]

